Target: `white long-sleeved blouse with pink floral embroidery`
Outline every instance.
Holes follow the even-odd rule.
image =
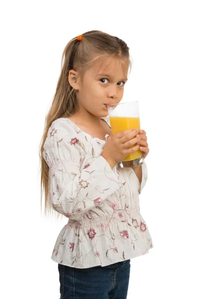
[[[109,117],[101,118],[110,127]],[[53,209],[68,219],[55,242],[51,259],[74,268],[107,266],[153,248],[140,214],[141,184],[132,167],[111,169],[100,156],[105,140],[82,131],[68,118],[49,128],[43,157],[49,166]]]

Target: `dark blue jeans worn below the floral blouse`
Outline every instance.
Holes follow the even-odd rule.
[[[58,264],[60,299],[126,299],[130,259],[78,269]]]

